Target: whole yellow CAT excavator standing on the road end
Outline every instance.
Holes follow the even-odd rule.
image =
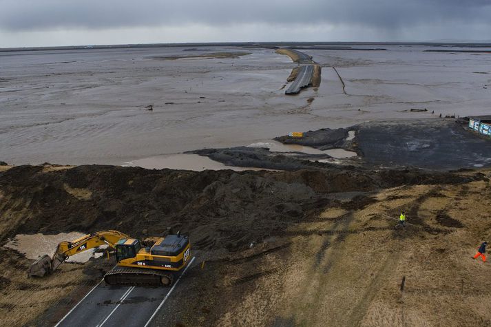
[[[30,266],[28,276],[50,275],[68,257],[105,244],[116,250],[116,266],[104,280],[123,285],[170,286],[174,274],[189,261],[191,249],[189,238],[180,233],[140,241],[119,231],[98,231],[72,242],[60,242],[52,257],[43,255]]]

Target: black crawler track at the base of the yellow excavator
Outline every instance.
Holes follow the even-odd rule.
[[[110,285],[171,286],[174,275],[157,269],[114,267],[104,280]]]

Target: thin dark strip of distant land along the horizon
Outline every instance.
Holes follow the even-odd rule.
[[[315,45],[430,45],[436,47],[491,48],[491,43],[466,42],[222,42],[222,43],[148,43],[115,45],[67,45],[60,47],[0,48],[0,52],[49,51],[49,50],[94,50],[94,49],[134,49],[134,48],[171,48],[171,47],[210,47],[236,46],[246,48],[280,48]]]

